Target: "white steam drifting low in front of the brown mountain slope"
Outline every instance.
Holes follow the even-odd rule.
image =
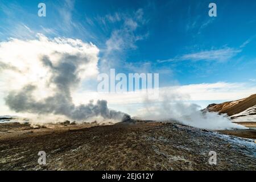
[[[175,121],[184,125],[199,127],[201,129],[225,130],[246,129],[230,121],[226,115],[201,111],[200,106],[186,102],[189,96],[172,90],[170,93],[160,94],[160,102],[155,104],[144,102],[144,113],[141,117],[160,121]]]

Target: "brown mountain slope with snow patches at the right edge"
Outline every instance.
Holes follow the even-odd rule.
[[[234,122],[256,122],[256,94],[237,101],[210,104],[206,109],[226,113]]]

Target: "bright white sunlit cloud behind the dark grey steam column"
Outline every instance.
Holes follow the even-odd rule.
[[[48,85],[53,73],[43,64],[42,57],[47,57],[54,66],[64,61],[63,55],[77,56],[77,60],[70,61],[78,61],[77,75],[84,79],[97,76],[98,52],[93,44],[78,39],[48,39],[42,34],[38,34],[38,39],[1,42],[0,91],[7,94],[32,84],[38,87],[35,94],[47,97],[55,86]]]

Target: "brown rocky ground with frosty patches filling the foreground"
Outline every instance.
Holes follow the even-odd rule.
[[[38,164],[39,151],[46,165]],[[210,151],[216,165],[208,163]],[[253,139],[177,123],[0,124],[1,170],[256,170],[255,164]]]

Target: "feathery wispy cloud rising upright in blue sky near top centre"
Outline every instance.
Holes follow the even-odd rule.
[[[138,33],[139,27],[142,27],[146,20],[143,18],[143,9],[138,9],[133,13],[108,14],[103,18],[98,18],[102,24],[118,22],[119,27],[114,28],[110,37],[105,42],[105,48],[101,49],[103,53],[101,63],[104,69],[109,69],[114,65],[118,66],[121,62],[121,57],[126,54],[127,51],[136,49],[136,43],[139,40],[147,38],[148,33]]]

